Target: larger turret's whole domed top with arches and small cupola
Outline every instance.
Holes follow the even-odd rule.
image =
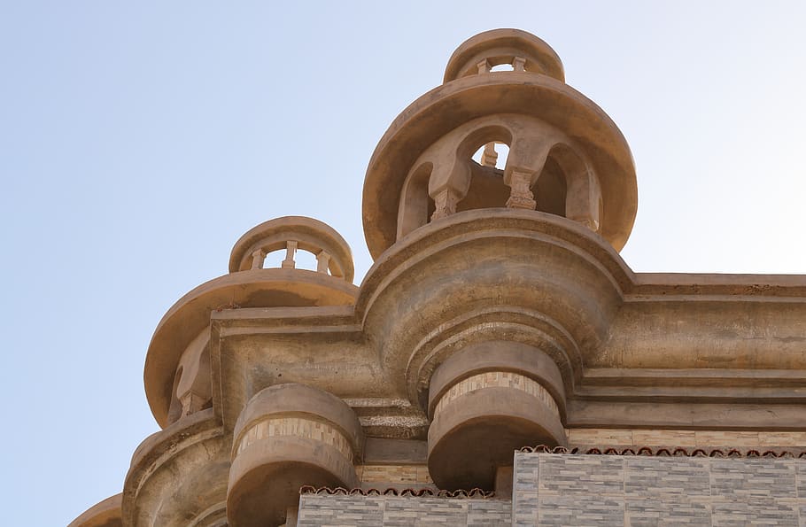
[[[620,251],[637,211],[632,154],[607,113],[564,78],[554,50],[524,31],[462,43],[445,83],[399,114],[369,161],[362,213],[373,258],[433,221],[507,208],[576,221]]]

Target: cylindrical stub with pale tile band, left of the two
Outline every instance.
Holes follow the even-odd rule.
[[[279,525],[299,488],[358,485],[363,433],[345,402],[303,384],[259,391],[233,432],[227,515],[232,527]]]

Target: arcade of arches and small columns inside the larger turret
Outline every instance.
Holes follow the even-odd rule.
[[[492,159],[473,159],[491,143],[508,147],[503,169]],[[453,213],[505,206],[562,216],[598,232],[600,183],[585,154],[545,122],[488,116],[454,129],[417,159],[401,189],[397,238]]]

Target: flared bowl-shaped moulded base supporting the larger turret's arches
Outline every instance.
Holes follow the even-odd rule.
[[[356,316],[412,403],[422,403],[416,393],[430,370],[479,340],[539,347],[570,393],[631,284],[613,247],[576,221],[481,209],[434,221],[384,252],[361,284]]]

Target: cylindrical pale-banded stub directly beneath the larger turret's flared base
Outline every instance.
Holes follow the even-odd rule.
[[[468,346],[431,376],[430,476],[443,489],[492,489],[514,450],[566,444],[564,407],[562,375],[546,353],[506,341]]]

